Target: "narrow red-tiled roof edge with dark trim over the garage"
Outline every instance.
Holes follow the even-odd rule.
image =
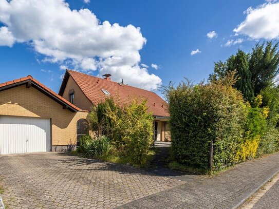
[[[0,84],[0,88],[5,87],[5,86],[9,86],[12,84],[20,84],[21,82],[30,80],[31,82],[33,82],[36,85],[39,85],[41,88],[43,88],[44,90],[46,90],[48,93],[50,93],[54,98],[62,101],[63,103],[66,103],[67,105],[69,105],[70,107],[72,107],[73,109],[80,111],[81,109],[78,108],[76,105],[71,104],[70,102],[68,102],[66,99],[64,99],[63,97],[59,96],[57,93],[55,93],[54,91],[50,90],[49,88],[47,88],[45,85],[43,85],[42,83],[40,83],[39,81],[37,81],[36,79],[33,79],[33,77],[31,75],[28,75],[27,77],[24,78],[20,78],[20,79],[15,79],[13,81],[8,81],[5,83]]]

